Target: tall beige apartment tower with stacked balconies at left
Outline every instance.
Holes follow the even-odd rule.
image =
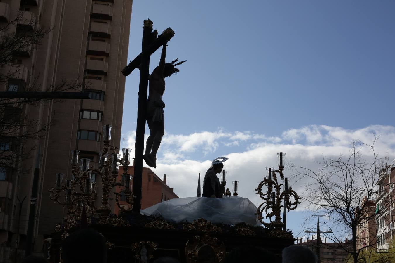
[[[120,145],[125,88],[121,69],[127,64],[132,0],[1,0],[0,23],[7,23],[20,10],[26,21],[34,19],[38,21],[37,26],[53,30],[45,35],[41,45],[13,57],[15,65],[1,70],[14,70],[13,78],[23,80],[27,87],[35,80],[41,90],[62,80],[78,79],[91,98],[65,99],[23,109],[29,119],[39,120],[40,125],[51,121],[40,142],[25,145],[39,143],[41,150],[34,230],[35,251],[41,252],[44,236],[50,234],[65,215],[62,205],[49,199],[48,189],[55,186],[55,173],[64,173],[64,180],[71,179],[71,150],[79,150],[80,159],[92,159],[93,165],[98,167],[104,124],[113,125],[111,144]],[[9,32],[17,30],[17,26],[13,26]],[[7,89],[9,85],[0,86],[0,91]],[[35,158],[21,160],[20,165],[30,168]],[[27,196],[19,229],[19,248],[24,248],[33,172],[0,180],[0,242],[11,248],[17,239],[17,197],[22,200]]]

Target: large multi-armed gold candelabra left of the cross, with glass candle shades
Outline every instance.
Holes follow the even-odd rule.
[[[71,179],[66,181],[63,185],[63,173],[56,173],[55,187],[49,190],[51,200],[55,203],[64,205],[67,208],[67,216],[65,219],[65,230],[70,229],[76,224],[77,220],[81,220],[82,211],[85,208],[87,216],[93,216],[98,213],[100,222],[105,222],[111,212],[109,206],[109,194],[115,194],[115,203],[122,210],[125,209],[119,204],[119,198],[122,192],[125,196],[125,201],[133,207],[133,193],[130,190],[130,175],[128,174],[128,166],[130,164],[131,149],[124,148],[123,157],[120,159],[120,154],[116,153],[117,147],[110,145],[111,141],[111,125],[103,125],[103,150],[99,153],[99,169],[89,168],[90,159],[81,159],[81,166],[77,167],[79,162],[79,151],[71,151]],[[109,158],[110,157],[110,158]],[[123,166],[123,180],[117,182],[119,171],[119,163]],[[94,178],[101,178],[102,188],[102,205],[95,206],[95,201],[98,197]],[[117,192],[116,187],[122,187]],[[61,192],[65,193],[65,201],[60,200]],[[89,220],[88,220],[89,221]]]

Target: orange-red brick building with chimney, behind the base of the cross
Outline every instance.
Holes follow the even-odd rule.
[[[129,174],[133,174],[134,167],[128,167]],[[117,181],[122,181],[122,166],[119,166],[119,175]],[[169,187],[167,184],[166,174],[163,176],[163,180],[158,177],[150,168],[143,167],[143,179],[141,183],[141,209],[146,209],[152,205],[160,202],[164,202],[173,198],[179,198],[177,194],[173,192],[173,188]],[[130,182],[130,187],[132,188],[133,178]],[[119,190],[118,188],[117,190]],[[120,199],[119,204],[128,206],[128,203]],[[115,205],[115,214],[119,214],[119,207]]]

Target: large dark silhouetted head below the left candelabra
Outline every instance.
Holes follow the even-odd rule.
[[[93,229],[80,229],[71,233],[62,243],[64,263],[105,263],[107,246],[105,237]]]

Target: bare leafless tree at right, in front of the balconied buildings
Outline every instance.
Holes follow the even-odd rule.
[[[333,231],[325,235],[336,243],[333,249],[347,252],[354,263],[382,261],[395,256],[393,252],[380,249],[381,241],[376,239],[381,234],[376,233],[378,218],[385,218],[384,225],[392,231],[389,226],[393,224],[390,194],[393,187],[389,183],[389,166],[383,168],[382,159],[374,151],[374,142],[368,145],[355,141],[349,155],[337,159],[324,157],[319,162],[318,172],[291,166],[298,180],[304,178],[310,182],[303,194],[310,213],[305,224],[310,225],[317,216],[322,218]],[[367,156],[363,156],[362,149],[367,150]],[[367,233],[370,236],[365,236]],[[351,246],[341,241],[344,237],[351,237]],[[363,256],[367,251],[375,253],[370,260]]]

